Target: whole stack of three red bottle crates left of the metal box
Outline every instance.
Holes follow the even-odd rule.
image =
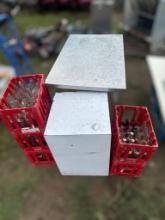
[[[35,165],[54,164],[43,136],[50,107],[43,74],[12,78],[0,100],[3,123]]]

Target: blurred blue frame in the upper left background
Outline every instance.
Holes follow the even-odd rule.
[[[16,31],[16,26],[8,14],[0,14],[0,49],[18,76],[33,73],[32,65]]]

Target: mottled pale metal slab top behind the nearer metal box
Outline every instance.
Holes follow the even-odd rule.
[[[70,35],[46,84],[62,89],[125,89],[122,35]]]

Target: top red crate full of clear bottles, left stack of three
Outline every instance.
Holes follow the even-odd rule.
[[[43,132],[50,106],[43,74],[14,77],[0,101],[0,114],[11,133]]]

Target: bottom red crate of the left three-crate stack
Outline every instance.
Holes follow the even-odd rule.
[[[49,150],[25,152],[26,157],[33,165],[54,165],[55,161]]]

